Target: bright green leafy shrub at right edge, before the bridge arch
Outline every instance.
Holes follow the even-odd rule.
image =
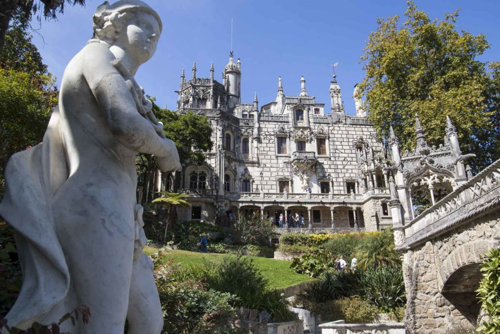
[[[477,298],[485,312],[486,320],[478,331],[492,334],[500,332],[500,249],[491,249],[481,263],[482,279]]]

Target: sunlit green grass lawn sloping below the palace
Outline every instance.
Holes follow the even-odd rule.
[[[147,255],[154,253],[157,249],[145,247],[144,253]],[[175,263],[182,265],[198,265],[203,261],[214,261],[220,259],[226,254],[203,254],[199,252],[191,252],[188,250],[171,250],[168,257],[173,258]],[[235,255],[229,255],[235,256]],[[290,268],[290,261],[275,260],[272,258],[256,257],[253,256],[253,263],[260,269],[262,275],[267,279],[268,286],[273,289],[282,289],[298,283],[312,280],[306,275],[298,274]]]

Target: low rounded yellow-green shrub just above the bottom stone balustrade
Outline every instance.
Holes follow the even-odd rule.
[[[314,305],[311,311],[323,322],[343,319],[347,323],[370,323],[377,317],[376,307],[358,297],[329,300]]]

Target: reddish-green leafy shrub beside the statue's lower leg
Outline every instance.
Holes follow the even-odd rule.
[[[154,280],[163,313],[165,333],[228,333],[227,318],[234,312],[230,293],[207,290],[200,282],[179,280],[180,266],[163,256],[160,250],[151,255]]]

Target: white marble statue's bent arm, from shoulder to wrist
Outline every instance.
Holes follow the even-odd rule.
[[[107,48],[95,44],[85,49],[83,76],[114,137],[134,151],[158,157],[178,156],[173,142],[158,136],[151,122],[137,111],[129,87],[112,65],[114,57]]]

